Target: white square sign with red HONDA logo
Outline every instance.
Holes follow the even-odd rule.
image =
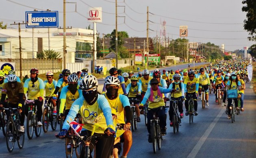
[[[89,22],[102,22],[102,7],[89,8],[89,17],[87,18]]]

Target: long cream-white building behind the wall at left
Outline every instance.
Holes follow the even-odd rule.
[[[49,30],[49,32],[48,32]],[[76,53],[92,53],[93,30],[82,28],[66,29],[66,63],[74,63]],[[43,50],[54,50],[63,57],[63,29],[21,29],[22,58],[33,59]],[[0,29],[1,58],[19,59],[18,29]]]

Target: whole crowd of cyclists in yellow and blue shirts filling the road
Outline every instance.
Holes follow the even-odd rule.
[[[201,98],[202,90],[204,90],[206,106],[209,106],[209,88],[213,89],[216,102],[219,88],[223,92],[221,106],[228,107],[228,119],[230,119],[229,107],[232,100],[227,96],[226,90],[238,89],[243,112],[245,82],[249,82],[247,72],[249,64],[249,59],[231,59],[206,65],[200,69],[163,70],[162,72],[158,69],[152,72],[145,69],[137,75],[132,71],[122,72],[113,67],[109,70],[110,75],[105,79],[102,94],[98,93],[97,78],[88,73],[87,68],[73,73],[64,69],[58,81],[54,80],[53,72],[47,72],[46,80],[43,81],[38,78],[39,70],[33,68],[30,70],[30,78],[26,79],[24,84],[20,82],[20,78],[13,70],[9,71],[5,79],[5,74],[0,71],[2,90],[0,110],[3,110],[3,107],[17,107],[21,113],[19,131],[24,133],[25,115],[28,114],[25,100],[35,100],[37,125],[43,126],[45,123],[41,121],[43,101],[45,97],[49,97],[48,101],[52,103],[54,116],[63,117],[71,122],[80,114],[82,123],[80,135],[90,136],[92,132],[95,132],[94,135],[97,137],[91,140],[90,153],[95,148],[96,158],[109,158],[111,155],[118,158],[122,148],[120,142],[123,143],[121,158],[126,158],[132,146],[130,99],[138,98],[139,100],[135,103],[137,122],[141,122],[140,114],[144,114],[143,107],[148,105],[148,141],[152,142],[149,122],[153,118],[153,113],[150,109],[159,108],[157,116],[161,134],[166,135],[167,111],[169,112],[169,125],[174,126],[173,99],[178,100],[179,117],[184,118],[184,115],[189,115],[188,101],[191,96],[194,103],[194,115],[197,116],[197,95]],[[171,98],[169,110],[165,107],[169,101],[168,97]],[[227,98],[228,104],[226,104]],[[185,114],[183,114],[183,101]],[[234,99],[236,108],[238,108],[237,102],[238,99]],[[101,126],[95,128],[95,123]],[[115,128],[117,124],[123,124],[121,132]],[[69,123],[64,121],[61,132],[56,137],[67,137],[69,128]],[[80,154],[82,158],[83,150]]]

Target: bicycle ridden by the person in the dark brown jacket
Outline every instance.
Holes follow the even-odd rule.
[[[6,127],[6,145],[9,152],[13,151],[14,143],[17,140],[20,149],[24,146],[25,133],[20,132],[20,109],[19,108],[4,108],[9,110],[10,116]]]

